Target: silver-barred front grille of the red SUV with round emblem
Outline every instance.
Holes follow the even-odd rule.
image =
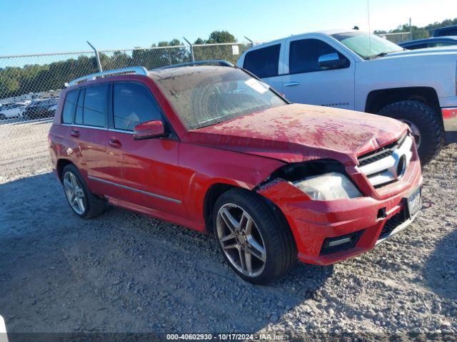
[[[358,157],[360,170],[375,188],[396,182],[403,177],[413,157],[413,138],[405,134],[396,142]]]

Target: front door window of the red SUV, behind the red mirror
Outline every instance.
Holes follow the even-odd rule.
[[[139,123],[162,120],[161,110],[149,89],[140,83],[113,84],[114,128],[134,130]]]

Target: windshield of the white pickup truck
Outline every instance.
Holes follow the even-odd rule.
[[[341,41],[363,59],[371,59],[385,56],[388,53],[403,51],[401,46],[374,34],[346,32],[332,34],[331,36]]]

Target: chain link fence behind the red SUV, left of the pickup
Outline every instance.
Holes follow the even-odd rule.
[[[251,43],[164,46],[99,51],[104,71],[151,70],[189,61],[236,63]],[[64,83],[98,71],[94,51],[0,56],[0,183],[49,170],[47,133]],[[10,174],[10,175],[7,175]]]

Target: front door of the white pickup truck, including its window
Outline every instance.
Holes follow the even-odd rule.
[[[338,54],[341,65],[319,66],[321,56]],[[288,38],[283,93],[293,103],[354,109],[355,61],[317,38]]]

